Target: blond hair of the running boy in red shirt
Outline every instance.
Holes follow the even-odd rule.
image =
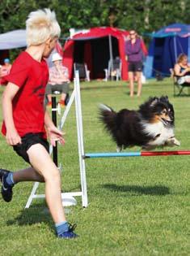
[[[59,37],[61,28],[56,20],[56,14],[49,9],[32,11],[26,21],[27,46],[37,46],[47,39]]]

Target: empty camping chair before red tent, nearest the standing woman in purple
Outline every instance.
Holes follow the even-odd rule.
[[[120,80],[121,78],[121,60],[119,57],[116,57],[116,59],[111,59],[108,62],[108,70],[104,70],[106,73],[106,79],[111,78],[111,80],[114,80],[116,77],[116,80]]]

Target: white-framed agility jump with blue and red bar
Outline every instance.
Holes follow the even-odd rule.
[[[70,107],[72,103],[75,102],[75,113],[76,113],[76,123],[77,123],[77,135],[78,135],[78,158],[79,158],[79,168],[80,168],[80,180],[81,180],[81,191],[62,193],[62,198],[65,196],[81,196],[82,206],[87,207],[87,180],[86,180],[86,166],[85,160],[88,158],[117,158],[117,157],[150,157],[150,156],[171,156],[171,155],[190,155],[190,150],[178,150],[178,151],[142,151],[142,152],[104,152],[104,153],[84,153],[84,141],[83,141],[83,127],[82,127],[82,107],[81,107],[81,96],[80,96],[80,82],[78,71],[74,72],[74,91],[71,94],[70,101],[65,108],[65,112],[61,118],[61,123],[59,128],[62,129],[65,124],[65,119],[69,114]],[[56,111],[56,106],[53,111]],[[55,119],[55,117],[53,117]],[[57,163],[57,147],[53,150],[50,148],[50,154],[53,153],[53,161]],[[35,182],[32,193],[27,200],[28,208],[34,198],[44,198],[44,194],[36,194],[36,190],[39,186],[38,182]]]

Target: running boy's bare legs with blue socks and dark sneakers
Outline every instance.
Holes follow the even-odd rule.
[[[45,181],[45,197],[49,206],[50,213],[56,224],[57,236],[64,239],[77,237],[77,235],[73,232],[75,225],[70,226],[65,220],[65,213],[61,202],[60,173],[56,165],[53,163],[53,160],[50,157],[47,149],[45,149],[44,145],[41,145],[40,143],[35,144],[27,150],[27,155],[30,159],[30,163],[35,169],[33,167],[29,167],[27,169],[16,171],[14,173],[0,169],[0,175],[2,174],[2,176],[4,177],[12,174],[11,177],[12,180],[14,180],[14,183],[17,183],[19,181]],[[3,179],[2,177],[0,178],[2,180],[3,188]],[[6,202],[11,201],[12,187],[14,183],[12,185],[9,185],[8,194],[7,189],[5,190],[6,199],[4,198],[4,192],[2,193],[2,197]]]

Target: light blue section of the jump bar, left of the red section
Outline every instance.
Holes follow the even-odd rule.
[[[116,157],[137,157],[141,152],[118,152],[118,153],[87,153],[84,158],[116,158]]]

